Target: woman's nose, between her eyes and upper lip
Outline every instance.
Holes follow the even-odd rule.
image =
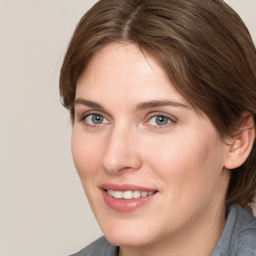
[[[106,140],[102,166],[110,174],[138,170],[142,164],[135,132],[113,128]]]

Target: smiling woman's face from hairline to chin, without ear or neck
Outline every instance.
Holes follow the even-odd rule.
[[[181,235],[223,210],[229,147],[133,44],[103,47],[79,77],[71,147],[113,244]]]

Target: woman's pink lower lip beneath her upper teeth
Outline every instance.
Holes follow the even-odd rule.
[[[122,212],[129,212],[137,208],[142,207],[147,202],[149,202],[156,194],[147,195],[139,198],[132,199],[117,199],[109,195],[105,190],[102,189],[103,198],[105,203],[112,209]]]

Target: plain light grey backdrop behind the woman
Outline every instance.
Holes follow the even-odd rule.
[[[256,41],[256,0],[226,0]],[[0,0],[0,256],[71,254],[101,235],[58,95],[66,45],[96,0]]]

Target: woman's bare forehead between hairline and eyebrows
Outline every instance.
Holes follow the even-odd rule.
[[[123,103],[161,98],[188,104],[156,61],[134,44],[102,47],[92,56],[76,86],[76,97],[90,100],[104,95]]]

